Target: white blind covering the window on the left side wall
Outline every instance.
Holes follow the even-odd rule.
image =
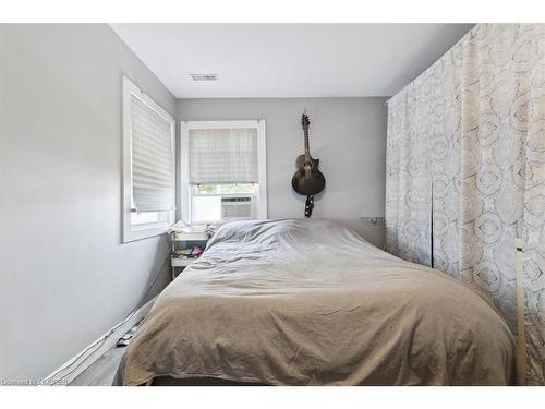
[[[174,209],[172,123],[131,95],[132,193],[138,213]]]

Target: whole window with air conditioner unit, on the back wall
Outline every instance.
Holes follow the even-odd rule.
[[[265,121],[181,122],[181,208],[189,224],[267,218]]]

